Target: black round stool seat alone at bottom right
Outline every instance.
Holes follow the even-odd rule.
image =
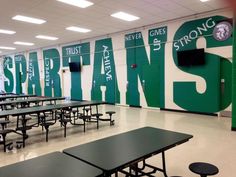
[[[216,175],[219,173],[219,169],[212,164],[204,162],[195,162],[189,165],[189,169],[196,174],[199,174],[201,177],[207,177]]]

